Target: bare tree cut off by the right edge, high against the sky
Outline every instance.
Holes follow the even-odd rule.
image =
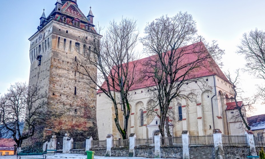
[[[244,33],[237,52],[245,55],[245,70],[265,80],[265,32],[256,28]],[[265,86],[259,85],[258,88],[259,97],[265,100]]]

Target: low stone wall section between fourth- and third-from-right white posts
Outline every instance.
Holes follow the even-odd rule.
[[[182,147],[160,147],[161,158],[182,158]]]

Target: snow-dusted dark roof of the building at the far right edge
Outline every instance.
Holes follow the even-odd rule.
[[[265,129],[265,114],[251,116],[248,117],[247,120],[251,130]]]

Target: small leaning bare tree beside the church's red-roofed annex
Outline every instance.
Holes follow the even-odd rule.
[[[228,81],[230,82],[230,84],[232,84],[232,87],[230,87],[230,92],[224,92],[224,94],[233,94],[232,98],[229,96],[225,96],[225,98],[227,101],[234,100],[235,106],[233,107],[233,109],[238,110],[238,112],[234,112],[234,114],[232,114],[230,120],[241,120],[243,124],[240,127],[247,128],[248,130],[250,130],[250,127],[248,126],[247,122],[246,111],[252,112],[254,110],[254,107],[252,105],[256,102],[256,97],[242,96],[244,91],[242,90],[242,88],[240,88],[241,80],[239,71],[239,69],[236,70],[235,77],[232,77],[229,71],[228,73],[225,73]],[[224,94],[222,96],[224,96]]]

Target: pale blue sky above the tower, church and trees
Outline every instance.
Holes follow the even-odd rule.
[[[29,37],[37,31],[39,18],[45,8],[46,16],[51,13],[57,0],[1,0],[0,5],[0,93],[4,94],[10,84],[29,81]],[[122,17],[137,20],[140,36],[147,22],[162,15],[174,16],[179,11],[192,14],[196,21],[198,35],[210,42],[217,40],[225,50],[222,57],[222,71],[234,72],[244,68],[244,56],[236,53],[237,45],[244,32],[258,28],[265,30],[265,1],[178,1],[178,0],[77,0],[81,11],[87,15],[92,7],[94,23],[107,27],[109,21]],[[142,45],[137,45],[142,53]],[[265,84],[253,75],[241,72],[241,86],[244,96],[254,96],[257,84]],[[257,103],[256,110],[249,115],[265,114],[265,105]]]

